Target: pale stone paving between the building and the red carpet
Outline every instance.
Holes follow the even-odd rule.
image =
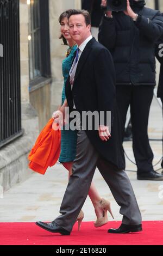
[[[153,100],[149,118],[149,138],[162,138],[162,112],[156,100]],[[162,156],[162,142],[150,141],[154,153],[153,163]],[[127,155],[133,160],[131,142],[124,142]],[[160,164],[155,169],[160,168]],[[127,174],[133,185],[143,220],[163,220],[163,181],[140,181],[136,179],[136,166],[127,160]],[[134,172],[135,171],[135,172]],[[159,170],[161,172],[161,170]],[[0,199],[1,222],[52,221],[59,215],[59,208],[68,180],[68,172],[57,163],[43,176],[33,173],[29,179],[10,188]],[[104,197],[111,201],[115,221],[122,220],[120,207],[112,197],[101,174],[96,170],[93,178],[95,185]],[[95,211],[89,198],[83,206],[84,221],[94,221]],[[108,214],[109,215],[109,214]],[[109,216],[111,220],[111,216]]]

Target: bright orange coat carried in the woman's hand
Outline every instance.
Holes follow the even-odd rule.
[[[29,168],[40,174],[45,174],[47,168],[53,166],[60,156],[61,131],[55,129],[57,124],[53,121],[53,118],[48,121],[28,156]]]

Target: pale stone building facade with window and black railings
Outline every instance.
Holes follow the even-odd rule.
[[[58,17],[80,4],[80,0],[0,1],[1,191],[32,174],[29,151],[60,105],[66,47],[58,39]]]

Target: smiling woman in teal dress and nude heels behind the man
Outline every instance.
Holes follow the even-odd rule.
[[[77,45],[70,36],[69,27],[68,27],[68,14],[70,10],[64,11],[59,17],[59,23],[61,26],[61,36],[60,39],[64,42],[64,45],[68,45],[68,50],[66,54],[66,58],[62,62],[62,74],[64,76],[64,86],[62,89],[62,101],[61,108],[59,111],[55,111],[53,113],[53,118],[57,118],[60,113],[64,113],[64,108],[67,106],[66,96],[65,96],[65,84],[67,78],[69,76],[69,72],[72,66],[74,54],[76,54]],[[61,111],[61,112],[60,112]],[[72,130],[61,130],[61,153],[59,157],[59,161],[63,164],[63,166],[68,170],[69,176],[72,174],[72,165],[73,161],[76,157],[76,145],[77,145],[77,131]],[[107,211],[111,212],[110,202],[101,198],[96,190],[95,185],[91,184],[89,190],[89,197],[92,201],[92,204],[95,208],[95,213],[97,216],[97,220],[94,223],[95,227],[101,227],[108,223]],[[81,210],[77,221],[79,223],[82,222],[84,217],[83,211]]]

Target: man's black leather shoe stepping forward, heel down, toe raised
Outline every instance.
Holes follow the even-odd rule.
[[[52,233],[60,233],[61,235],[70,235],[69,231],[60,227],[54,221],[49,222],[49,223],[37,221],[35,224],[38,225],[40,228],[43,228],[43,229],[45,229],[47,231],[50,231]]]

